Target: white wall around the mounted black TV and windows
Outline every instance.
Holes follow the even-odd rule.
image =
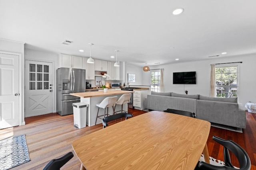
[[[164,68],[164,92],[176,92],[185,94],[185,90],[188,90],[188,94],[201,94],[204,96],[210,96],[210,64],[217,63],[231,63],[240,62],[238,81],[238,102],[243,106],[247,102],[256,103],[256,54],[241,55],[236,57],[220,57],[215,59],[208,59],[202,61],[193,62],[176,62],[173,64],[163,64],[157,66],[150,66],[150,69]],[[140,68],[142,70],[142,68]],[[196,71],[196,84],[172,84],[173,72],[187,72]],[[150,82],[150,71],[142,73],[142,81]]]

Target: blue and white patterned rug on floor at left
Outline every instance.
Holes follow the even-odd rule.
[[[0,141],[0,170],[8,170],[30,161],[25,135]]]

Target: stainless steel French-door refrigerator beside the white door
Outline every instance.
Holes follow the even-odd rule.
[[[85,92],[85,70],[77,68],[58,68],[57,76],[57,113],[69,115],[73,113],[73,103],[80,102],[80,98],[70,93]]]

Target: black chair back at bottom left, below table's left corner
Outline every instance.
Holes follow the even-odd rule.
[[[60,168],[66,164],[71,158],[73,158],[73,152],[68,152],[64,156],[51,160],[43,170],[60,170]]]

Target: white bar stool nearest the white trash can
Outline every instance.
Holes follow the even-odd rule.
[[[114,111],[115,111],[114,106],[116,105],[116,100],[117,100],[117,96],[107,97],[104,100],[102,100],[101,103],[96,104],[96,106],[98,106],[99,108],[98,108],[98,113],[97,113],[95,125],[96,125],[96,122],[97,122],[98,118],[102,119],[101,116],[106,117],[106,115],[107,116],[110,115],[110,114],[108,114],[108,107],[112,107],[113,108],[113,115],[114,115]],[[104,115],[98,116],[100,108],[104,109]],[[107,114],[106,114],[106,108],[107,108]]]

